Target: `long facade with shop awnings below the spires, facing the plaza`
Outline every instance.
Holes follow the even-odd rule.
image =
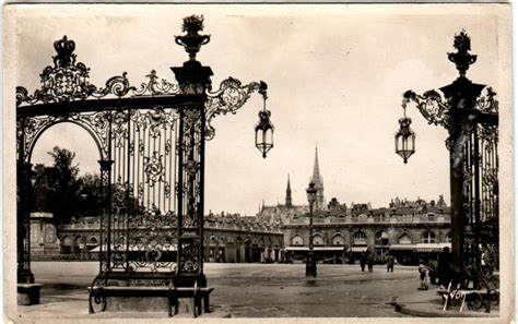
[[[450,209],[432,202],[377,209],[353,204],[351,208],[317,212],[313,224],[316,252],[342,248],[342,262],[353,262],[369,249],[378,257],[392,254],[398,262],[411,264],[420,254],[438,253],[451,242]],[[284,224],[282,231],[286,251],[309,247],[307,214]]]

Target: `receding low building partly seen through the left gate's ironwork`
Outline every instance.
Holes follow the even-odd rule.
[[[155,229],[163,244],[176,244],[175,220]],[[142,235],[139,235],[142,231]],[[131,237],[145,238],[149,229],[133,230]],[[43,257],[64,257],[93,260],[101,244],[99,218],[81,217],[70,224],[58,226],[59,255]],[[117,237],[117,232],[114,233]],[[204,219],[204,261],[207,262],[275,262],[280,261],[284,248],[280,227],[261,224],[255,216],[208,215]],[[146,244],[138,241],[134,244]],[[130,242],[133,244],[133,242]],[[52,256],[54,255],[54,256]]]

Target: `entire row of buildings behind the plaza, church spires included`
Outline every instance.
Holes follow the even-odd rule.
[[[426,202],[395,197],[388,207],[373,208],[370,203],[341,204],[335,197],[326,205],[320,176],[318,148],[310,181],[317,188],[314,208],[315,252],[340,262],[354,262],[367,249],[378,257],[392,254],[402,264],[412,264],[423,253],[438,253],[451,242],[450,208],[440,195]],[[149,244],[150,224],[163,217],[155,231],[162,244],[175,244],[176,217],[150,215],[133,219],[130,244]],[[145,215],[132,216],[145,218]],[[145,223],[148,221],[148,226]],[[99,218],[82,217],[54,226],[51,215],[35,213],[32,218],[32,252],[39,256],[95,259],[99,240]],[[120,228],[123,228],[121,226]],[[134,229],[133,229],[134,228]],[[114,233],[117,238],[117,233]],[[36,243],[37,242],[37,243]],[[309,247],[309,207],[294,205],[290,176],[284,204],[266,206],[256,216],[210,214],[204,217],[204,260],[207,262],[283,262]]]

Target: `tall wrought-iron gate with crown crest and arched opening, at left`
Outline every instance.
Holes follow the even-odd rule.
[[[229,77],[212,89],[212,71],[196,60],[210,37],[201,16],[184,20],[189,60],[172,68],[177,83],[152,70],[140,86],[127,73],[104,87],[90,83],[90,68],[76,61],[75,43],[55,41],[54,64],[31,94],[16,87],[19,283],[34,281],[30,269],[31,155],[50,127],[71,122],[85,129],[99,154],[102,215],[99,275],[169,272],[184,285],[207,285],[203,275],[204,143],[214,137],[211,120],[235,113],[266,84],[242,85]],[[187,279],[186,279],[187,278]],[[191,278],[191,279],[189,279]]]

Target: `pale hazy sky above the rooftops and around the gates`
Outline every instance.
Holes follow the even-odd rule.
[[[499,5],[31,5],[15,12],[16,85],[39,87],[51,64],[52,43],[67,35],[91,83],[128,72],[134,85],[151,70],[174,82],[170,67],[187,53],[174,43],[181,19],[203,14],[211,41],[198,60],[214,71],[214,88],[228,76],[268,83],[267,108],[275,127],[274,147],[263,159],[254,144],[255,94],[236,113],[220,116],[207,144],[205,212],[254,215],[284,202],[290,175],[294,204],[305,189],[318,146],[325,195],[341,203],[387,206],[395,196],[449,201],[447,131],[428,125],[413,106],[407,115],[416,153],[407,165],[395,153],[402,117],[401,95],[451,83],[448,61],[454,36],[471,37],[478,62],[468,77],[505,87],[502,81],[503,8]],[[55,145],[75,152],[82,172],[97,171],[94,142],[76,125],[47,130],[33,164],[51,164]]]

